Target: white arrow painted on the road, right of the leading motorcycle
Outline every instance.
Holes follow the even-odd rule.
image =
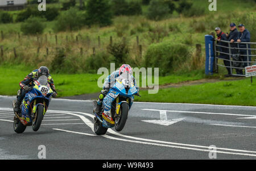
[[[160,124],[163,126],[170,126],[171,124],[180,122],[181,120],[185,119],[185,118],[167,119],[167,114],[165,110],[160,110],[159,112],[160,112],[160,120],[142,120],[142,122]]]

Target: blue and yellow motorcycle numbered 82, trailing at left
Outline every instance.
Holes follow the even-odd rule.
[[[52,93],[46,76],[41,76],[34,81],[24,97],[22,105],[20,105],[20,112],[14,113],[13,127],[16,133],[24,132],[27,126],[32,126],[33,131],[39,130],[51,101]],[[13,107],[15,103],[16,100],[13,101]]]

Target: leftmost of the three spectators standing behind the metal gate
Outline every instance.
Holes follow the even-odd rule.
[[[224,65],[226,66],[226,69],[228,70],[228,74],[225,75],[225,77],[231,77],[231,68],[230,68],[230,56],[225,54],[229,53],[229,49],[225,48],[228,47],[228,43],[222,42],[220,40],[228,41],[228,37],[226,37],[225,33],[221,31],[220,27],[215,28],[216,34],[217,34],[217,44],[221,45],[222,47],[218,47],[218,51],[220,51],[220,55],[218,55],[219,58],[223,59]],[[224,53],[221,53],[224,52]]]

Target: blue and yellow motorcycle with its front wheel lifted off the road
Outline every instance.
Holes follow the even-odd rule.
[[[100,114],[94,114],[94,132],[97,135],[104,135],[108,128],[115,127],[115,130],[122,131],[137,94],[137,88],[131,79],[119,77],[110,88],[103,99]],[[140,95],[138,95],[140,96]],[[96,102],[97,103],[97,102]],[[94,101],[94,105],[96,105]]]

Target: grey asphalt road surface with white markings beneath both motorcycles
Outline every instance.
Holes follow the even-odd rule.
[[[52,99],[38,132],[16,134],[13,99],[0,96],[0,159],[39,159],[39,145],[46,159],[256,159],[256,107],[135,102],[121,132],[96,136],[92,101]]]

